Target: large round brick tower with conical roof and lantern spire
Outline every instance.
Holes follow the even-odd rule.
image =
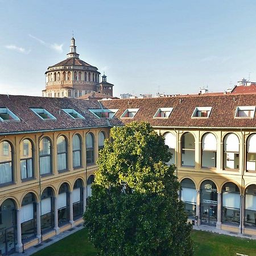
[[[95,92],[100,82],[98,69],[79,59],[75,38],[71,39],[67,59],[49,66],[45,74],[44,97],[80,97],[86,93]]]

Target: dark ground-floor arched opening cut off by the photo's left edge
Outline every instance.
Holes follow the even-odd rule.
[[[0,206],[0,253],[14,253],[16,245],[16,207],[12,199],[6,199]]]

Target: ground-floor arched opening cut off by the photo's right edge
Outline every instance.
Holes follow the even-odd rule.
[[[245,190],[245,225],[256,228],[256,185],[249,185]]]

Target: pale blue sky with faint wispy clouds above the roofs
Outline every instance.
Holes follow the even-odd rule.
[[[223,92],[256,81],[255,11],[246,0],[0,0],[0,93],[41,96],[72,31],[114,96]]]

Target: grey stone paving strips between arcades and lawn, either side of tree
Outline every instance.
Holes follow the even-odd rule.
[[[64,237],[67,237],[67,236],[77,232],[78,230],[80,230],[82,228],[83,228],[82,225],[81,226],[76,226],[72,229],[66,230],[66,231],[58,234],[57,236],[51,237],[50,242],[44,241],[42,244],[40,244],[40,246],[37,246],[37,245],[32,246],[29,249],[25,250],[24,253],[14,253],[14,254],[12,254],[12,256],[28,256],[28,255],[34,254],[37,251],[40,251],[40,250],[44,249],[45,247],[47,247],[49,245],[52,245],[53,243],[63,239]],[[236,232],[229,232],[229,231],[225,231],[225,230],[220,230],[220,229],[216,229],[214,226],[207,226],[207,225],[196,226],[195,225],[195,226],[193,226],[193,229],[212,232],[212,233],[218,233],[218,234],[225,234],[225,235],[233,236],[233,237],[241,237],[241,238],[256,240],[256,236],[250,236],[250,235],[240,234],[240,233],[236,233]]]

